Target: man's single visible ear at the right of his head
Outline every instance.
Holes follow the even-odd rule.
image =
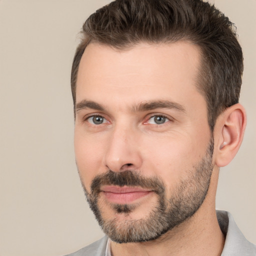
[[[225,109],[214,128],[215,164],[227,165],[237,153],[246,126],[244,107],[237,103]]]

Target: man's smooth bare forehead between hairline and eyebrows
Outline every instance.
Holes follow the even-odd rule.
[[[76,102],[185,101],[199,93],[199,67],[200,51],[189,42],[140,43],[126,50],[91,43],[79,64]]]

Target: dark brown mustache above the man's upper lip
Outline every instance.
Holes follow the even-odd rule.
[[[135,170],[120,172],[108,170],[106,173],[95,176],[90,185],[91,194],[97,195],[103,185],[142,187],[153,190],[157,194],[164,192],[163,182],[158,177],[144,177]]]

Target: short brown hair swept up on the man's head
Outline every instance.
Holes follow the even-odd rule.
[[[91,42],[124,50],[139,42],[190,41],[201,50],[198,88],[211,130],[221,111],[238,102],[242,50],[233,23],[214,5],[202,0],[115,0],[91,14],[81,33],[71,70],[74,106],[79,62]]]

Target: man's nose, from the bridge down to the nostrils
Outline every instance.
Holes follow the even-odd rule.
[[[104,165],[112,171],[137,170],[142,164],[138,134],[132,128],[115,126],[111,131],[103,158]]]

